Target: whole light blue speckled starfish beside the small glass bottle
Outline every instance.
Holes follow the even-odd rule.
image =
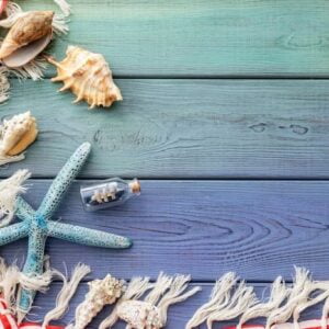
[[[37,211],[34,211],[22,197],[16,198],[15,215],[23,222],[0,229],[0,246],[29,237],[29,251],[23,273],[27,275],[43,273],[44,249],[48,236],[104,248],[132,246],[132,241],[125,237],[50,220],[65,192],[87,160],[90,149],[90,144],[84,143],[75,151],[53,181]],[[22,291],[19,300],[21,319],[29,313],[34,296],[35,292]]]

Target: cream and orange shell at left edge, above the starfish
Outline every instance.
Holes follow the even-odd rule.
[[[30,111],[4,120],[0,127],[0,154],[11,157],[21,154],[36,139],[37,133]]]

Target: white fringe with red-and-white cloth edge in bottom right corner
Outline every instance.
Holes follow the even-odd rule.
[[[223,275],[215,284],[209,300],[200,307],[186,324],[185,329],[196,328],[203,322],[213,328],[215,321],[238,319],[230,329],[243,329],[243,325],[256,318],[265,318],[265,326],[248,326],[248,329],[327,329],[329,309],[329,281],[314,281],[308,271],[295,268],[292,285],[279,276],[272,284],[266,302],[258,300],[253,287],[238,283],[235,273]],[[322,318],[299,322],[300,314],[310,306],[325,302]],[[293,318],[293,324],[287,324]]]

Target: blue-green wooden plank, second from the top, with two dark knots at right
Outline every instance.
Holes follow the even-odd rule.
[[[118,79],[110,111],[72,105],[49,81],[13,81],[2,117],[32,110],[38,141],[24,162],[54,177],[82,141],[86,178],[328,178],[327,80]]]

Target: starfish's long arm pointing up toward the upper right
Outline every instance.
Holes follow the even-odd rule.
[[[46,219],[50,219],[65,192],[68,190],[69,185],[79,173],[90,154],[90,148],[91,146],[89,143],[83,143],[68,159],[66,164],[57,174],[56,179],[53,181],[38,209],[38,212]]]

